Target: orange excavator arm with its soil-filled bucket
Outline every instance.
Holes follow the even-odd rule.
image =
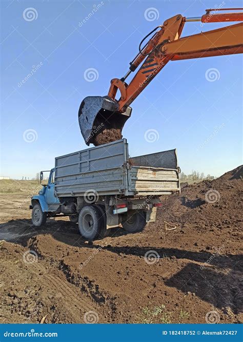
[[[108,96],[88,96],[80,104],[78,121],[85,143],[98,146],[122,139],[122,129],[132,112],[130,104],[169,61],[242,53],[243,23],[181,37],[187,22],[242,22],[243,12],[240,10],[243,8],[207,9],[201,17],[177,14],[155,27],[140,42],[139,52],[130,62],[125,76],[111,80]],[[126,83],[127,77],[140,64],[134,78]],[[117,90],[120,98],[116,100]]]

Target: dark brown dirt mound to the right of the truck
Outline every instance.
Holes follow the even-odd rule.
[[[239,166],[215,180],[185,184],[179,196],[161,198],[163,206],[156,224],[159,227],[165,220],[200,232],[240,230],[242,173],[243,166]]]

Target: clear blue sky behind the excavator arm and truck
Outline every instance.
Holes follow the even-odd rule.
[[[220,4],[241,7],[240,1]],[[1,1],[1,175],[33,177],[53,167],[56,156],[86,148],[77,120],[83,98],[105,96],[155,26],[214,6],[207,0]],[[147,20],[151,7],[155,15]],[[182,35],[220,26],[186,23]],[[241,96],[239,54],[169,62],[131,105],[123,129],[130,155],[176,147],[185,173],[220,176],[242,163]]]

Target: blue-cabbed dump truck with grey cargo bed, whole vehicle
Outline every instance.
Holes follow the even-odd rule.
[[[69,216],[87,240],[112,227],[140,232],[156,220],[161,196],[180,192],[179,172],[176,149],[129,158],[126,139],[56,157],[55,167],[40,173],[32,223]]]

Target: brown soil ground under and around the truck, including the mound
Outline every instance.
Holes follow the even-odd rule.
[[[33,229],[29,190],[3,191],[0,322],[47,315],[46,323],[83,323],[90,311],[100,323],[205,323],[210,311],[219,322],[242,322],[241,173],[242,166],[186,184],[181,195],[161,199],[144,232],[114,229],[93,244],[68,220]],[[176,229],[166,231],[164,221]],[[159,255],[152,264],[149,251]]]

